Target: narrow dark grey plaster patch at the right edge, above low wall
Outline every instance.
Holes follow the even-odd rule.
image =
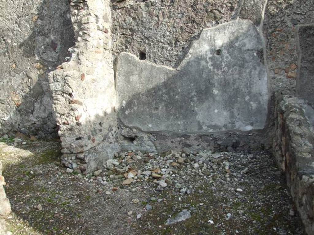
[[[296,81],[297,95],[314,107],[314,25],[300,26],[299,76]]]

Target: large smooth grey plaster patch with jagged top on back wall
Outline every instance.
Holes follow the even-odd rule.
[[[262,51],[252,22],[235,20],[203,30],[176,69],[121,53],[119,117],[143,131],[263,129],[268,82]]]

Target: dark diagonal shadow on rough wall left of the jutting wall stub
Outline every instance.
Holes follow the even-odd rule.
[[[68,49],[74,45],[74,29],[66,0],[43,0],[37,12],[32,18],[32,33],[17,48],[23,55],[20,63],[26,64],[21,74],[28,80],[27,84],[19,86],[30,88],[24,95],[15,93],[12,97],[16,108],[3,129],[10,129],[10,133],[20,131],[40,138],[56,138],[57,124],[47,75],[69,56]]]

